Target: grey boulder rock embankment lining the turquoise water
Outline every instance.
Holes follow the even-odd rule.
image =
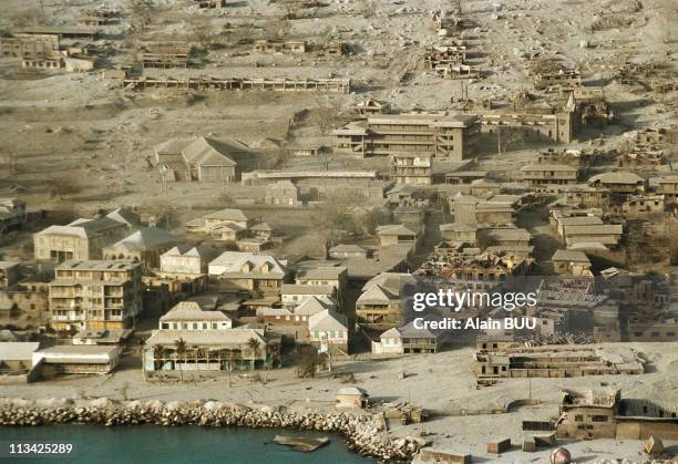
[[[0,400],[0,425],[43,424],[238,425],[335,432],[343,436],[349,450],[386,462],[410,462],[424,444],[414,437],[389,439],[381,421],[368,414],[299,412],[282,406],[246,406],[218,401]]]

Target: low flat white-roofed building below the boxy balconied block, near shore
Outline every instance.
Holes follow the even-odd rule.
[[[58,344],[33,352],[33,367],[42,364],[42,374],[106,374],[120,361],[117,347],[97,344]]]

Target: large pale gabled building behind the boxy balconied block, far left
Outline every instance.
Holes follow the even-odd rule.
[[[101,259],[103,248],[126,231],[125,223],[110,217],[76,219],[65,226],[50,226],[33,235],[35,259],[58,264],[71,259]]]

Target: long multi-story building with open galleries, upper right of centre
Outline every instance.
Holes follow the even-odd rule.
[[[339,154],[428,153],[449,161],[469,158],[479,134],[479,117],[461,114],[376,115],[333,131],[335,152]]]

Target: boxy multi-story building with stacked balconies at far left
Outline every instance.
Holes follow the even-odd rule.
[[[70,260],[54,275],[49,301],[58,330],[125,329],[142,312],[138,262]]]

